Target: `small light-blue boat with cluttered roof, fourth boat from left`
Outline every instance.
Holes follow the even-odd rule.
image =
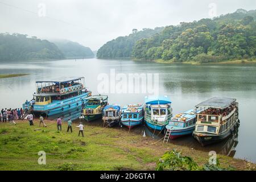
[[[141,125],[144,119],[144,109],[141,104],[130,104],[122,107],[121,124],[129,129]]]

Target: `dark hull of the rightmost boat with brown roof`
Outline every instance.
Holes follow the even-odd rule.
[[[221,140],[224,140],[228,138],[230,135],[233,134],[233,131],[238,129],[240,126],[239,121],[234,123],[232,127],[228,131],[225,131],[224,133],[221,134],[207,134],[207,133],[196,133],[195,131],[193,132],[193,137],[201,144],[201,146],[208,146],[209,144],[217,143],[220,142]]]

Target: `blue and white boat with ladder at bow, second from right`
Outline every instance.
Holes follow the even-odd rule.
[[[196,126],[196,114],[198,113],[200,113],[200,110],[191,109],[172,117],[166,126],[166,129],[170,131],[170,139],[192,135]]]

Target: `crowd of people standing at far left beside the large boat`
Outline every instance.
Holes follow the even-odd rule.
[[[20,109],[2,109],[0,112],[0,122],[7,122],[9,121],[10,123],[15,123],[15,120],[19,120],[22,118],[24,114],[24,111],[22,108]]]

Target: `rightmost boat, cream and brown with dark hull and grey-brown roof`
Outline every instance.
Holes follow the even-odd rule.
[[[196,105],[196,128],[193,137],[202,145],[220,142],[240,126],[238,102],[234,98],[213,97]]]

